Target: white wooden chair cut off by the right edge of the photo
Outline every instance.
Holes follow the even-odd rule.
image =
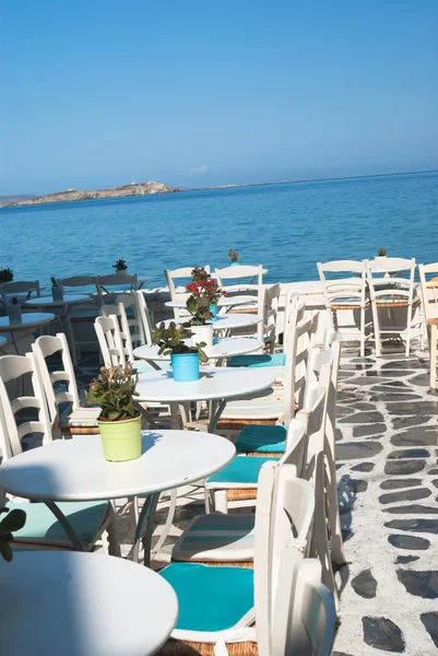
[[[434,391],[437,388],[437,351],[438,351],[438,262],[418,265],[419,284],[422,288],[423,314],[427,341],[429,344],[429,384]],[[431,276],[430,279],[426,278]]]

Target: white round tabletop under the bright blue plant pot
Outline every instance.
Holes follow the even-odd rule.
[[[253,394],[271,387],[275,374],[270,367],[202,367],[199,380],[192,383],[176,383],[171,372],[157,371],[150,374],[139,374],[137,391],[139,401],[209,401],[215,399],[230,399]],[[9,462],[15,460],[9,460]],[[5,464],[8,466],[8,462]],[[0,467],[0,488],[2,484],[2,469]],[[110,499],[110,497],[109,497]]]

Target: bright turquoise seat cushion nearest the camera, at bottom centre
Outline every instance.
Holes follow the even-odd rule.
[[[171,563],[159,572],[178,597],[180,631],[225,631],[253,608],[253,571]]]

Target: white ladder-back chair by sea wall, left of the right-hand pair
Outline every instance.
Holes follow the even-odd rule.
[[[372,321],[368,320],[367,309],[370,300],[367,292],[365,262],[355,260],[335,260],[317,263],[322,282],[324,304],[329,311],[332,328],[339,330],[342,339],[357,337],[357,324],[360,341],[360,356],[365,355],[365,342],[372,332]],[[351,273],[351,278],[338,278],[339,274]],[[334,276],[334,279],[330,277]],[[340,313],[347,321],[347,315],[353,315],[350,323],[340,323]]]

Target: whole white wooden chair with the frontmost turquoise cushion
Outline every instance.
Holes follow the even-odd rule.
[[[297,496],[309,499],[311,490],[306,481],[296,479],[296,468],[267,464],[260,471],[260,503],[256,512],[254,570],[225,566],[215,567],[188,562],[174,562],[161,571],[173,585],[179,601],[180,614],[171,639],[189,642],[193,649],[204,653],[203,644],[226,644],[229,656],[236,651],[253,653],[256,632],[250,624],[256,620],[259,655],[270,654],[272,641],[272,608],[281,583],[279,565],[286,544],[295,537],[293,517],[297,516]],[[272,502],[272,499],[274,501]],[[306,512],[306,511],[305,511]],[[303,560],[301,550],[288,551],[294,563]],[[233,606],[229,599],[233,598]],[[233,610],[230,610],[233,608]],[[182,645],[168,643],[163,654]]]

